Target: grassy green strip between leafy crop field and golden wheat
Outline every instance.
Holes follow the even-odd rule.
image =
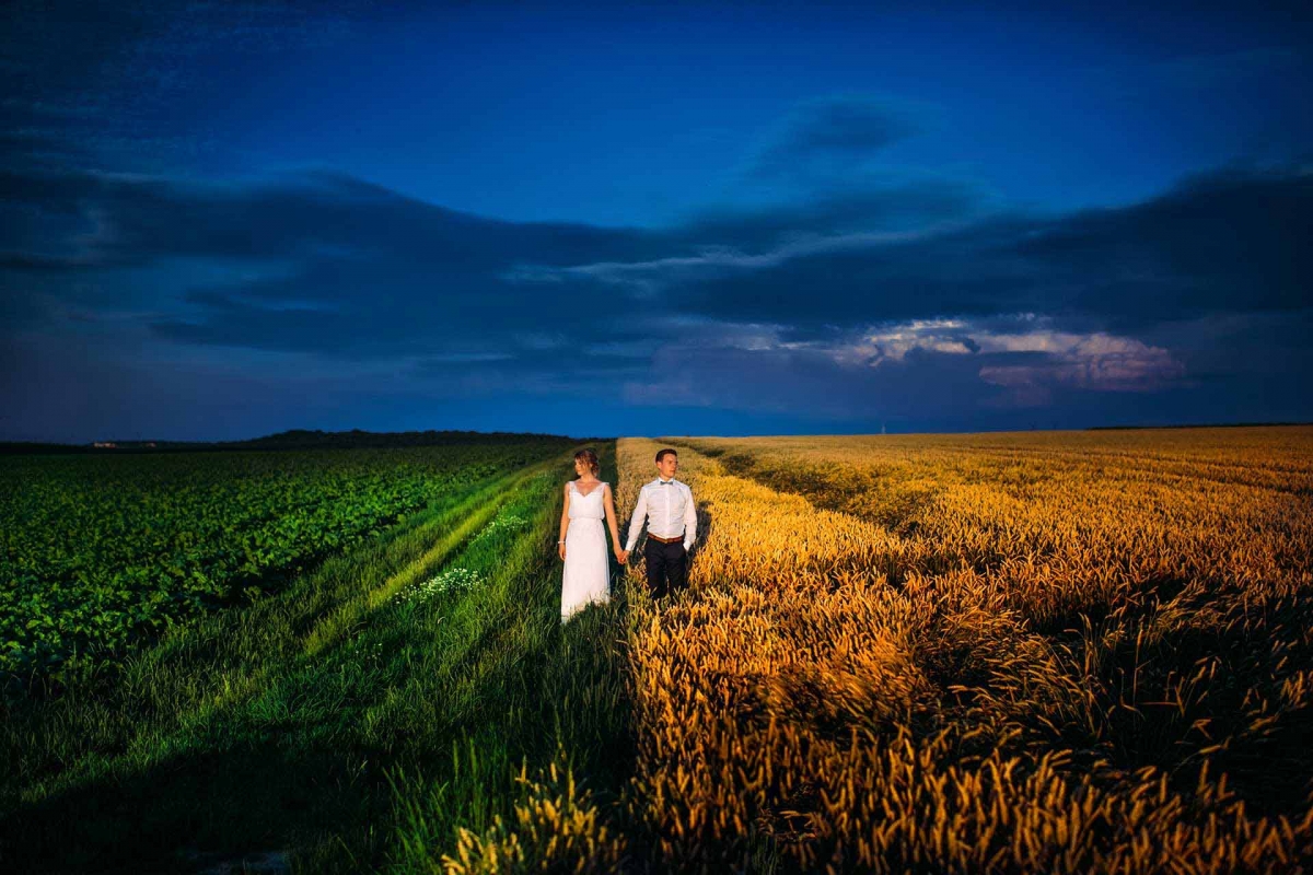
[[[561,627],[569,460],[449,496],[277,596],[173,630],[112,682],[8,707],[0,867],[177,871],[189,850],[286,850],[299,871],[428,871],[558,750],[613,796],[632,761],[624,594]],[[435,577],[469,585],[407,597]]]

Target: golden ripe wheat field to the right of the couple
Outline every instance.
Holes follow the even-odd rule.
[[[626,631],[658,868],[1308,866],[1313,429],[624,438],[618,506],[660,446],[700,531]]]

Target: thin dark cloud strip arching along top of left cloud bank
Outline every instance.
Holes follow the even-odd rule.
[[[105,265],[161,257],[284,258],[324,248],[423,257],[462,269],[494,270],[511,258],[545,265],[591,258],[643,258],[655,241],[638,232],[571,224],[516,224],[414,201],[328,172],[285,181],[197,184],[81,171],[0,173],[5,224],[18,209],[104,227],[80,237],[76,254]]]

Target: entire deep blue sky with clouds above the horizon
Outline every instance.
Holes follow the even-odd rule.
[[[1309,420],[1308,16],[0,10],[0,439]]]

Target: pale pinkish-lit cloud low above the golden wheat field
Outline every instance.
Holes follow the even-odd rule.
[[[901,391],[927,375],[951,375],[973,384],[973,405],[983,401],[997,408],[1033,407],[1071,388],[1152,392],[1187,376],[1184,365],[1166,349],[1102,332],[1056,331],[1050,319],[1035,314],[978,323],[910,320],[801,341],[785,338],[771,325],[721,327],[729,331],[716,342],[689,337],[667,344],[659,358],[664,378],[626,387],[628,397],[635,403],[674,397],[705,407],[734,407],[752,399],[752,404],[777,408],[832,408],[836,415],[853,403],[851,392],[836,388],[853,386],[867,392],[878,390],[885,404],[906,405],[898,412],[907,415],[915,407],[934,405],[927,397],[909,397]],[[751,366],[744,356],[752,359]],[[708,370],[723,371],[725,382],[708,379]],[[978,379],[970,380],[973,374]],[[763,376],[760,396],[747,390]]]

